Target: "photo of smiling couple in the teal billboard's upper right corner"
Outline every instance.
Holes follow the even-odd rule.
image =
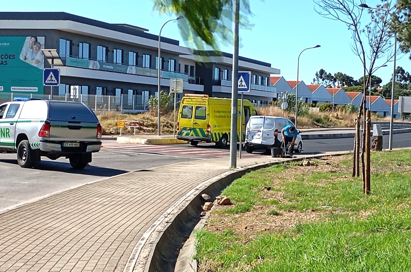
[[[37,67],[44,69],[44,37],[26,37],[21,49],[20,59]]]

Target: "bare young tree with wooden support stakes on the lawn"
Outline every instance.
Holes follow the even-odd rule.
[[[382,5],[377,6],[376,10],[369,9],[369,21],[362,27],[362,21],[365,21],[364,7],[367,7],[363,0],[314,0],[316,6],[314,9],[318,14],[332,20],[345,23],[352,34],[352,42],[350,44],[354,54],[356,54],[363,64],[364,78],[368,75],[368,80],[363,84],[363,99],[358,111],[356,122],[356,137],[354,142],[353,154],[353,176],[360,175],[360,157],[363,170],[363,191],[365,190],[365,148],[361,150],[360,156],[360,137],[359,123],[363,111],[366,109],[366,94],[367,87],[370,84],[371,76],[377,69],[385,65],[393,58],[392,44],[390,39],[390,21],[391,12],[395,8],[392,5],[392,0],[382,0]],[[365,42],[366,43],[365,43]],[[383,61],[381,61],[383,59]],[[377,65],[378,62],[378,65]],[[382,63],[381,63],[382,62]],[[363,119],[365,128],[366,122],[370,120]],[[362,137],[363,147],[365,147],[365,129]]]

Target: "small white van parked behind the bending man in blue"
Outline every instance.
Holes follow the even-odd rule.
[[[293,122],[287,118],[276,116],[251,116],[245,132],[245,150],[252,153],[254,149],[279,148],[282,143],[281,131],[286,126],[294,126]],[[298,131],[294,150],[300,153],[302,150],[302,141]]]

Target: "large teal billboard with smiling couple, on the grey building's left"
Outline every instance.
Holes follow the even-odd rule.
[[[43,94],[44,37],[0,37],[0,96]]]

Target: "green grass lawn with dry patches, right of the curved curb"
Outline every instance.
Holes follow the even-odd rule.
[[[234,181],[222,194],[236,205],[213,210],[197,233],[199,271],[411,271],[411,150],[372,153],[372,161],[369,196],[349,156]],[[270,228],[290,214],[316,220]],[[242,227],[256,221],[267,228]]]

